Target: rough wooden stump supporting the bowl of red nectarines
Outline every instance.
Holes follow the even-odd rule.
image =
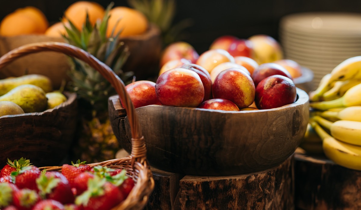
[[[193,176],[152,168],[149,209],[287,209],[294,206],[293,155],[268,170],[232,176]]]

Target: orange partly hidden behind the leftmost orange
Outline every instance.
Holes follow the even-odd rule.
[[[17,9],[15,10],[15,12],[26,14],[30,18],[34,19],[37,24],[36,32],[38,33],[44,33],[49,27],[49,22],[47,18],[45,17],[44,13],[38,8],[35,8],[33,6],[27,6],[25,8]]]

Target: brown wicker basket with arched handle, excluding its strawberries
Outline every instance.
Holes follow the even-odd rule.
[[[119,158],[114,160],[108,160],[100,163],[89,164],[90,166],[102,165],[113,168],[122,168],[134,179],[135,186],[130,192],[129,196],[121,202],[118,206],[114,207],[114,210],[120,209],[143,209],[147,204],[149,194],[154,188],[154,180],[152,173],[148,165],[146,158],[146,148],[144,138],[139,126],[138,117],[135,114],[134,106],[129,98],[127,91],[125,90],[124,83],[119,77],[104,63],[93,57],[90,53],[79,49],[75,46],[57,43],[57,42],[44,42],[28,44],[16,48],[0,58],[0,69],[5,67],[10,62],[17,58],[23,57],[31,53],[38,53],[44,51],[52,51],[64,53],[66,55],[78,58],[84,62],[87,62],[91,67],[101,73],[101,75],[112,84],[113,88],[117,91],[119,99],[125,106],[127,111],[130,126],[132,130],[132,150],[131,155],[125,158]],[[61,167],[43,167],[47,170],[60,170]]]

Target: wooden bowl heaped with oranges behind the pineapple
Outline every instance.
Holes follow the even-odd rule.
[[[64,26],[70,27],[68,20],[81,30],[87,13],[91,24],[95,24],[104,18],[106,10],[95,2],[77,1],[65,10],[62,21],[49,24],[43,12],[35,7],[17,9],[0,23],[0,56],[25,44],[65,42],[62,34],[66,34]],[[113,28],[114,34],[121,31],[118,39],[125,43],[130,53],[123,71],[133,71],[140,78],[156,75],[157,72],[145,69],[158,64],[161,52],[158,27],[150,24],[142,13],[125,6],[114,7],[109,10],[109,14],[107,37],[111,35]],[[58,88],[64,79],[68,79],[66,72],[69,68],[65,55],[42,52],[18,59],[0,72],[0,79],[36,73],[48,76],[54,87]]]

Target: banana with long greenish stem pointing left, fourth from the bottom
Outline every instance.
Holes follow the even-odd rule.
[[[318,110],[328,110],[335,107],[351,106],[361,106],[361,84],[355,85],[348,89],[341,98],[330,101],[310,103],[310,107]]]

